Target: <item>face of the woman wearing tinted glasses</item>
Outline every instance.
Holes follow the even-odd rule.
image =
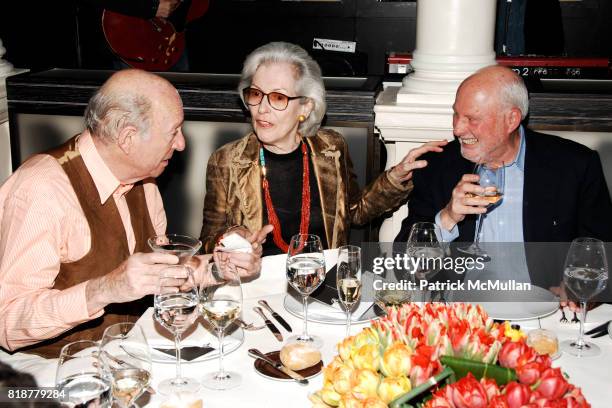
[[[251,88],[264,93],[279,92],[290,97],[300,96],[296,92],[295,81],[295,71],[291,64],[269,63],[257,68]],[[289,101],[285,110],[276,110],[270,106],[268,98],[264,96],[259,105],[249,105],[257,138],[265,145],[291,145],[296,139],[299,115],[307,117],[311,111],[309,103],[300,102],[301,99],[293,99]]]

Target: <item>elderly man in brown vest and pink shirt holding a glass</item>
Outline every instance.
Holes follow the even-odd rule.
[[[185,148],[178,92],[154,74],[120,71],[91,98],[85,125],[0,187],[5,349],[56,357],[70,341],[98,340],[108,325],[136,320],[151,305],[142,298],[162,281],[181,282],[160,279],[178,258],[146,242],[166,229],[153,179]],[[199,258],[201,277],[210,256]],[[253,275],[260,252],[233,261]]]

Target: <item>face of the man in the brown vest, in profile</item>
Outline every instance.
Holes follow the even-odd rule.
[[[176,92],[170,90],[155,99],[151,108],[148,134],[134,137],[131,152],[138,178],[159,176],[175,150],[185,149],[183,136],[183,105]]]

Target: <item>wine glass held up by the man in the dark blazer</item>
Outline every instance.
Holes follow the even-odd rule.
[[[493,206],[501,204],[504,196],[504,183],[505,183],[505,167],[503,163],[501,165],[496,164],[479,164],[476,167],[476,173],[480,176],[478,184],[484,188],[482,197],[485,198],[489,205],[487,210]],[[474,197],[474,195],[470,195]],[[463,248],[457,248],[459,251],[470,254],[473,256],[479,256],[484,260],[489,260],[490,257],[486,251],[480,247],[480,238],[482,231],[482,224],[487,216],[487,213],[478,214],[478,222],[476,223],[476,235],[474,236],[474,242]]]

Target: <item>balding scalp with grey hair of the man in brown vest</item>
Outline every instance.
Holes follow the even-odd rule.
[[[137,69],[118,71],[89,100],[85,126],[104,143],[115,141],[126,126],[146,135],[152,108],[167,97],[180,101],[176,89],[166,79]]]

